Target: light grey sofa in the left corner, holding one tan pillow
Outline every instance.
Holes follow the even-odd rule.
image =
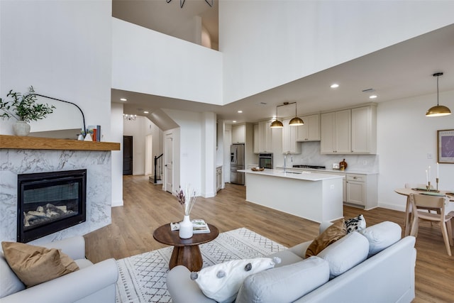
[[[79,270],[54,280],[26,288],[9,268],[0,252],[0,303],[115,302],[118,267],[113,258],[93,264],[85,258],[82,236],[42,245],[61,249],[72,258]]]

